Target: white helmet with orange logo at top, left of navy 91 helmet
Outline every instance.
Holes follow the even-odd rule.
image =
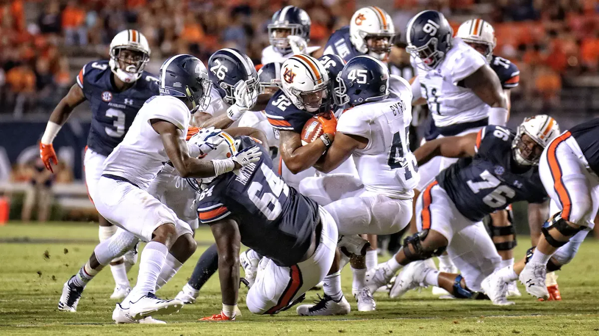
[[[389,55],[394,36],[391,16],[376,6],[360,8],[349,22],[349,39],[353,46],[359,52],[380,60]],[[368,39],[373,39],[370,45]]]

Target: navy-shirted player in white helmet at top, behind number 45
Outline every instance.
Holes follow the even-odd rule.
[[[360,55],[386,60],[391,53],[395,26],[391,16],[376,6],[360,8],[353,14],[349,26],[332,33],[324,54],[335,54],[346,62]]]

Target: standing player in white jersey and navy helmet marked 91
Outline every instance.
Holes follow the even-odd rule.
[[[413,105],[427,103],[435,126],[426,139],[465,135],[507,122],[507,100],[497,74],[485,57],[452,35],[449,22],[437,11],[422,11],[407,25],[406,51],[418,69],[412,82]],[[437,157],[423,166],[416,194],[455,161]],[[452,270],[449,257],[440,258],[440,268]]]

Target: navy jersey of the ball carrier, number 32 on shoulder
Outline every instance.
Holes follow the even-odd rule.
[[[310,112],[298,109],[283,90],[273,94],[264,111],[274,129],[295,133],[301,133],[308,119],[314,117]]]

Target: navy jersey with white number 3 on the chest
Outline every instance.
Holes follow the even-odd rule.
[[[125,91],[117,92],[108,61],[89,62],[77,75],[77,84],[92,109],[87,146],[108,156],[125,137],[137,111],[147,99],[158,94],[158,78],[144,71]]]

